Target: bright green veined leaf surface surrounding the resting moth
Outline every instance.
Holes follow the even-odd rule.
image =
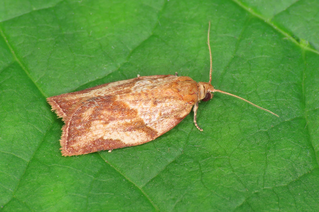
[[[0,210],[314,210],[319,3],[0,3]],[[140,74],[221,93],[146,144],[63,157],[46,98]]]

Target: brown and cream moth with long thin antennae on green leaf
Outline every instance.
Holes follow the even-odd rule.
[[[209,82],[196,82],[177,74],[138,76],[47,98],[52,110],[65,123],[60,140],[62,155],[111,151],[149,142],[175,127],[192,108],[195,126],[203,131],[197,124],[198,102],[212,99],[213,92],[234,96],[272,113],[211,85],[209,31],[210,23]]]

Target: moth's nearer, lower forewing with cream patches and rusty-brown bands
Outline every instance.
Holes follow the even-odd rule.
[[[78,155],[100,150],[136,146],[154,140],[176,126],[191,110],[174,99],[174,108],[159,111],[163,103],[141,106],[134,98],[116,95],[92,99],[81,106],[63,126],[63,155]],[[172,104],[172,99],[171,103]]]

